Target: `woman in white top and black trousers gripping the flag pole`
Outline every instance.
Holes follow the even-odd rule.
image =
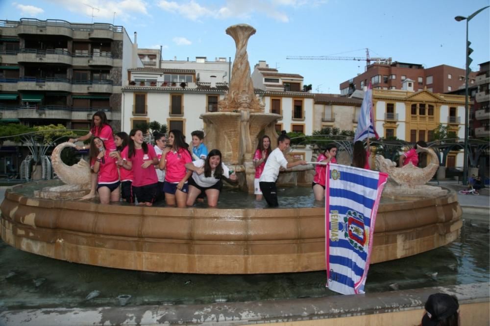
[[[296,162],[288,162],[284,157],[283,151],[289,148],[291,139],[286,132],[283,130],[281,135],[277,139],[277,147],[270,153],[267,158],[266,165],[264,166],[264,171],[259,179],[259,186],[267,204],[270,207],[277,207],[279,203],[277,202],[277,188],[276,181],[279,176],[279,168],[289,168],[297,165],[306,165],[306,161],[300,160]]]

